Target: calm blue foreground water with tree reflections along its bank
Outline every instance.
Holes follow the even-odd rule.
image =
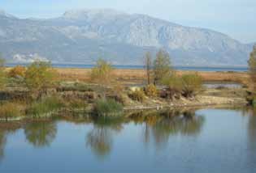
[[[256,112],[2,124],[0,172],[256,172]]]

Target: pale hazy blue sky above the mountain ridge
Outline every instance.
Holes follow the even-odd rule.
[[[51,18],[83,8],[147,14],[256,42],[256,0],[0,0],[0,9],[20,18]]]

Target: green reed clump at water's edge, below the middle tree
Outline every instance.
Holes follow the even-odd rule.
[[[97,116],[120,115],[121,112],[123,112],[122,104],[114,99],[99,99],[93,108],[93,113]]]

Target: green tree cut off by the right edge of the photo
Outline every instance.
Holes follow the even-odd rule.
[[[252,86],[256,89],[256,45],[254,45],[253,52],[249,55],[248,66]]]

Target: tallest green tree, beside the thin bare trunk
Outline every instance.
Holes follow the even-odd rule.
[[[171,75],[171,59],[169,53],[159,50],[154,60],[154,84],[162,82],[163,78]]]

